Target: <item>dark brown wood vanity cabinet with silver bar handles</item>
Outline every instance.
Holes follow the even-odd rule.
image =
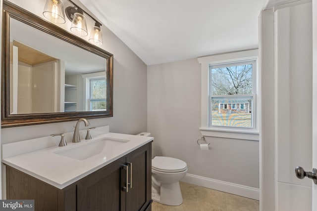
[[[151,142],[62,190],[9,166],[6,185],[36,211],[151,211]]]

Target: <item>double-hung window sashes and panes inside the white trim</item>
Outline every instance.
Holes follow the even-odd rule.
[[[254,127],[255,70],[256,60],[209,65],[210,127]]]

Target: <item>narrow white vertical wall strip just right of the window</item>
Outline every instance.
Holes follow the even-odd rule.
[[[274,25],[273,9],[259,16],[259,62],[261,68],[261,127],[260,127],[260,208],[274,211]]]

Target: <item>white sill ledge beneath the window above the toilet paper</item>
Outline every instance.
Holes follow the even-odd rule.
[[[200,127],[203,136],[259,141],[259,131]]]

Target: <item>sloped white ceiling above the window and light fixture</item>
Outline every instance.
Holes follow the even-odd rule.
[[[257,48],[258,16],[268,3],[268,0],[80,1],[147,65]]]

